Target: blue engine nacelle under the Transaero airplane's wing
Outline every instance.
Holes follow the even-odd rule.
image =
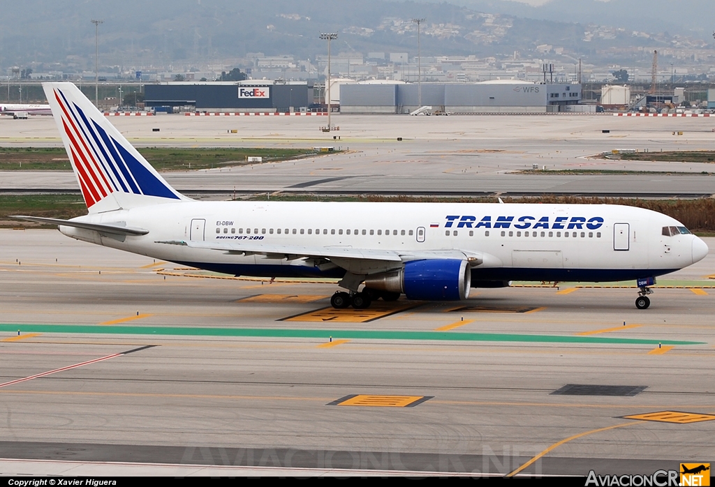
[[[405,262],[398,271],[368,276],[365,287],[404,293],[408,299],[458,301],[469,297],[471,280],[467,261],[427,259]]]

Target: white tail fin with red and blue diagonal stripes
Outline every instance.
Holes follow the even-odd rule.
[[[159,176],[77,86],[42,86],[89,213],[189,200]]]

